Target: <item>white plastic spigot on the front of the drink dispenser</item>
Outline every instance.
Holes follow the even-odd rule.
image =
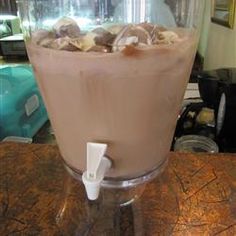
[[[89,200],[98,198],[105,173],[111,168],[111,161],[104,156],[106,149],[104,143],[87,143],[87,170],[82,181]]]

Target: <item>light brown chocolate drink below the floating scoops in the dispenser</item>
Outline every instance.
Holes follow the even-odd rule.
[[[86,169],[86,143],[107,143],[109,177],[138,177],[168,156],[196,38],[122,51],[71,52],[27,42],[68,166]]]

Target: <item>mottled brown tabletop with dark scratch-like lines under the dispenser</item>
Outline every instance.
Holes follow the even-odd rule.
[[[0,144],[1,236],[236,235],[236,155],[170,153],[137,201],[114,196],[88,202],[57,146]]]

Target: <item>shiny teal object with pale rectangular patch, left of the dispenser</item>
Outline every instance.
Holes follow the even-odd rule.
[[[32,138],[47,120],[32,67],[0,66],[0,139]]]

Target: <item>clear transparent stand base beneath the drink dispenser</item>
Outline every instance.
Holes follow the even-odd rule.
[[[81,182],[68,175],[56,215],[62,235],[171,235],[179,205],[167,171],[120,190],[103,188],[98,200],[89,201]]]

